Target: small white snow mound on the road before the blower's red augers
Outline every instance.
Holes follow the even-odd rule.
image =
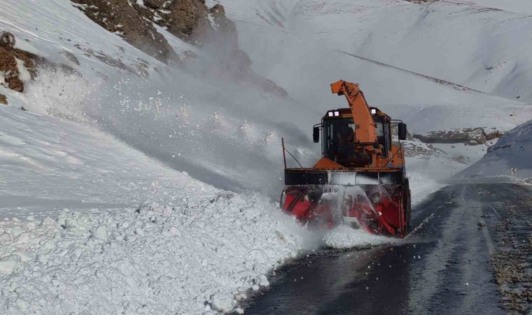
[[[388,243],[392,239],[371,235],[363,230],[354,230],[347,225],[339,225],[323,237],[323,244],[330,248],[366,248]]]

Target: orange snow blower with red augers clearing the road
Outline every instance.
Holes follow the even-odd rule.
[[[344,95],[349,109],[325,113],[314,125],[322,158],[311,168],[287,168],[281,207],[303,224],[353,228],[384,235],[407,235],[410,189],[400,144],[407,126],[367,105],[358,84],[339,80],[332,92]],[[392,141],[397,127],[398,143]],[[288,151],[286,151],[288,152]]]

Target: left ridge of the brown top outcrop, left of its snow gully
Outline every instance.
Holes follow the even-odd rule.
[[[142,52],[168,63],[179,60],[151,21],[144,18],[127,0],[71,0],[76,7],[104,29],[124,38]]]

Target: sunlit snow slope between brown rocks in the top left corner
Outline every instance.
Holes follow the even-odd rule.
[[[117,71],[127,73],[125,67],[137,69],[143,60],[151,72],[164,66],[89,20],[66,0],[3,1],[0,30],[13,33],[18,48],[72,66],[89,82]]]

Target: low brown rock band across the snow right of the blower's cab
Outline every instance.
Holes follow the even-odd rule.
[[[462,128],[443,131],[433,131],[426,134],[414,134],[415,139],[419,139],[426,144],[466,144],[477,146],[486,144],[487,141],[500,138],[503,132],[495,128]]]

